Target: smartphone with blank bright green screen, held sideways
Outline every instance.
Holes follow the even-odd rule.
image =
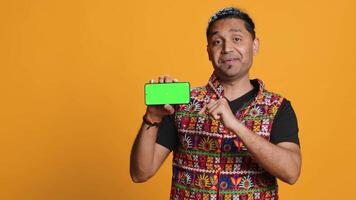
[[[189,82],[146,83],[145,104],[188,104],[190,101]]]

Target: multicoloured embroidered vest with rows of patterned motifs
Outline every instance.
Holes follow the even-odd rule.
[[[262,81],[258,83],[257,96],[235,115],[269,140],[283,97],[265,90]],[[252,159],[241,140],[219,120],[198,114],[210,99],[223,96],[222,85],[212,75],[205,87],[191,90],[189,104],[176,108],[179,142],[173,153],[170,199],[278,199],[276,178]]]

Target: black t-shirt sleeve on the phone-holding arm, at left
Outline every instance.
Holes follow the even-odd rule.
[[[174,124],[174,115],[163,118],[158,128],[156,143],[173,151],[177,143],[177,128]]]

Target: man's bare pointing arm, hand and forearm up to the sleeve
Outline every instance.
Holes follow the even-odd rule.
[[[300,150],[297,144],[281,142],[275,145],[257,135],[236,119],[225,98],[211,100],[199,114],[206,111],[214,119],[220,119],[226,128],[238,135],[253,159],[270,174],[289,184],[297,181],[301,168]]]

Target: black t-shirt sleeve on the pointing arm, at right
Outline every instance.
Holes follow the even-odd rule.
[[[298,122],[290,101],[284,99],[273,121],[270,141],[273,144],[293,142],[299,144]]]

